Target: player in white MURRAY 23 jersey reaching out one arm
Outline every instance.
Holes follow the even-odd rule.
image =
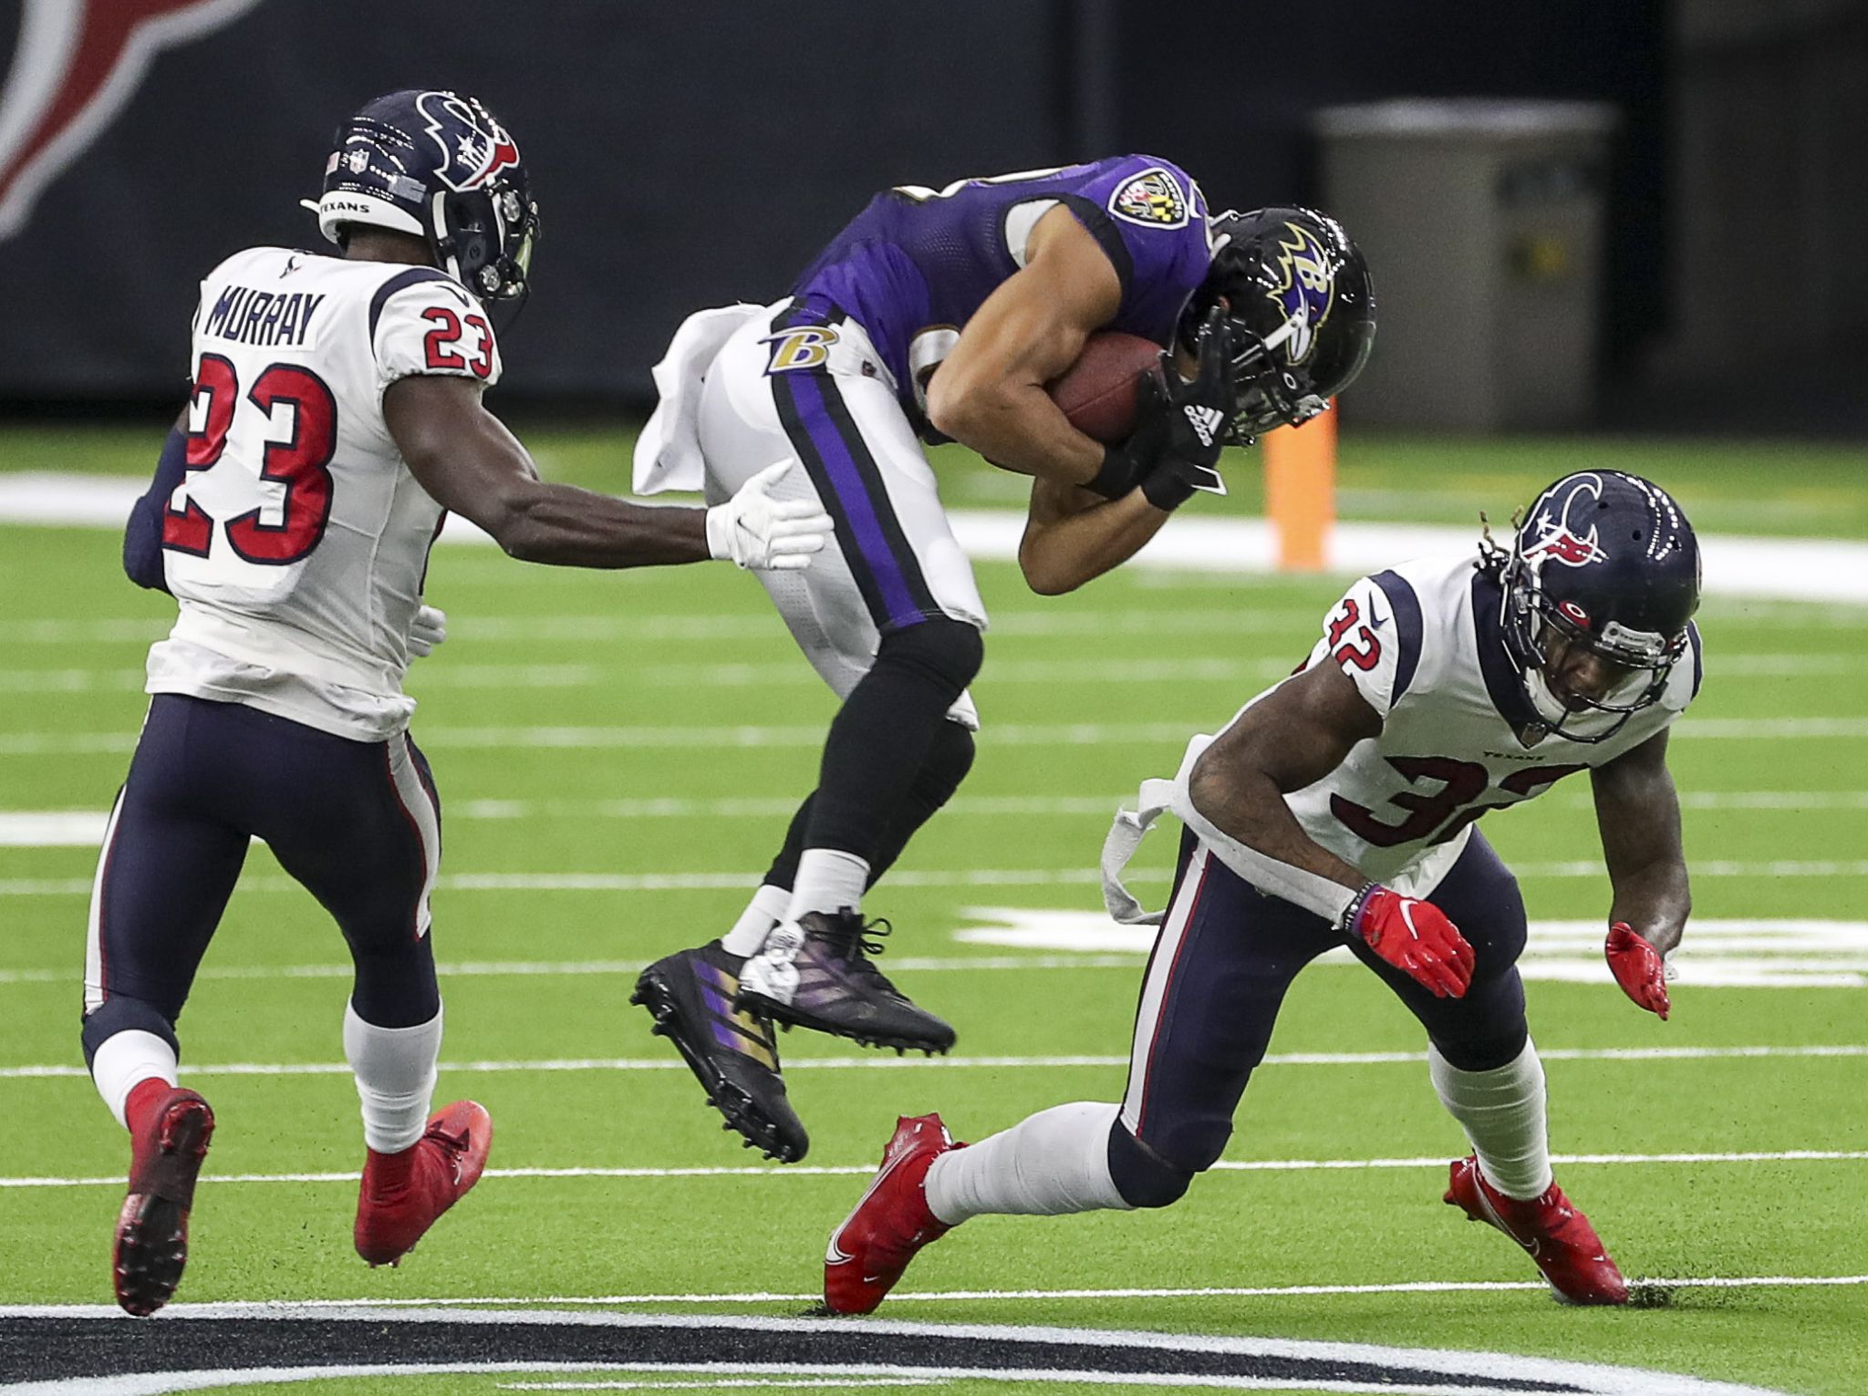
[[[783,465],[712,510],[538,480],[480,403],[501,373],[491,306],[525,295],[538,207],[517,146],[473,97],[396,91],[359,110],[310,207],[342,256],[252,248],[202,282],[189,407],[125,534],[133,580],[179,608],[149,651],[84,972],[84,1056],[131,1133],[114,1277],[133,1314],[174,1295],[187,1258],[215,1122],[177,1086],[176,1019],[254,836],[355,961],[357,1252],[396,1263],[486,1163],[484,1109],[430,1118],[441,806],[402,692],[411,651],[441,638],[422,579],[445,515],[516,558],[577,567],[796,569],[829,530],[768,496]]]

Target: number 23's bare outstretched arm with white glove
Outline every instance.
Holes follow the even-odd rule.
[[[523,562],[654,567],[732,558],[742,567],[794,569],[829,534],[816,504],[770,496],[790,463],[762,470],[712,510],[635,504],[540,480],[525,446],[482,407],[469,379],[398,379],[383,394],[383,418],[435,504],[480,524]]]

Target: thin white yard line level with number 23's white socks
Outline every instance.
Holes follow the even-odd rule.
[[[1134,961],[1128,961],[1134,963]],[[443,969],[443,974],[452,970]],[[349,969],[344,970],[349,974]],[[69,976],[67,976],[69,978]],[[1715,1062],[1715,1060],[1849,1060],[1868,1056],[1868,1045],[1797,1045],[1797,1047],[1539,1047],[1545,1062]],[[1425,1053],[1270,1053],[1261,1066],[1423,1066]],[[1119,1068],[1128,1056],[798,1056],[786,1058],[785,1069],[798,1071],[964,1071],[964,1069],[1063,1069],[1063,1068]],[[521,1062],[443,1062],[443,1071],[463,1073],[529,1073],[529,1071],[686,1071],[674,1056],[573,1056]],[[344,1077],[346,1062],[220,1062],[187,1068],[194,1077]],[[86,1077],[77,1064],[7,1066],[0,1068],[4,1081],[73,1079]]]

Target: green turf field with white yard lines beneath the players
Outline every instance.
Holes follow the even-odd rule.
[[[149,439],[131,435],[13,433],[0,459],[142,470]],[[1672,485],[1707,532],[1868,536],[1862,452],[1588,450]],[[611,489],[624,487],[624,457],[616,437],[594,431],[540,446],[553,472]],[[1343,511],[1448,523],[1487,508],[1496,519],[1573,465],[1549,442],[1352,437]],[[953,455],[941,468],[958,502],[1011,504],[1003,478]],[[0,810],[101,812],[121,778],[142,653],[170,603],[131,588],[116,549],[101,530],[0,528]],[[785,1038],[792,1099],[813,1131],[807,1165],[785,1170],[757,1166],[719,1131],[628,993],[641,963],[732,920],[786,803],[813,784],[829,694],[758,584],[732,569],[579,575],[439,549],[430,599],[448,610],[450,640],[409,687],[446,810],[441,1099],[486,1103],[491,1165],[517,1172],[489,1176],[396,1271],[351,1252],[347,1178],[278,1180],[347,1176],[361,1137],[340,1068],[342,942],[256,849],[181,1025],[187,1079],[213,1101],[219,1131],[179,1299],[601,1299],[796,1316],[897,1112],[940,1110],[971,1138],[1044,1105],[1119,1096],[1141,956],[956,931],[1095,913],[1113,799],[1169,775],[1188,733],[1289,670],[1339,580],[1136,571],[1039,599],[990,564],[981,584],[994,631],[975,685],[979,761],[869,907],[897,926],[884,967],[902,963],[897,982],[956,1025],[960,1049],[899,1062]],[[1859,916],[1868,612],[1713,597],[1702,633],[1705,691],[1674,741],[1696,918]],[[1606,881],[1578,866],[1599,857],[1584,788],[1485,831],[1519,868],[1534,918],[1606,911]],[[1139,859],[1153,873],[1139,888],[1156,901],[1169,855],[1158,834]],[[0,847],[0,1305],[110,1299],[127,1148],[78,1054],[92,866],[84,847]],[[1728,954],[1786,976],[1861,980],[1859,941],[1849,972],[1842,952],[1732,935],[1741,944]],[[1298,982],[1272,1043],[1278,1056],[1321,1060],[1268,1064],[1227,1150],[1227,1165],[1276,1166],[1216,1170],[1156,1213],[975,1221],[925,1252],[882,1314],[1487,1349],[1857,1396],[1868,1390],[1868,998],[1827,984],[1696,985],[1692,963],[1689,950],[1666,1025],[1629,1004],[1606,969],[1528,985],[1552,1146],[1608,1157],[1560,1163],[1558,1178],[1631,1278],[1754,1282],[1657,1286],[1618,1312],[1567,1310],[1537,1288],[1444,1288],[1524,1286],[1535,1271],[1506,1237],[1440,1206],[1444,1161],[1463,1140],[1408,1058],[1423,1045],[1412,1019],[1360,969],[1324,965]],[[1605,1054],[1681,1047],[1705,1054]],[[1407,1060],[1343,1060],[1352,1053]],[[1784,1157],[1799,1152],[1849,1157]],[[1810,1284],[1838,1277],[1857,1284]],[[306,1390],[545,1379],[351,1377]]]

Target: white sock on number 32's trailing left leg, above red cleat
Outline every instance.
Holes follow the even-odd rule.
[[[1121,1109],[1095,1101],[1054,1105],[969,1148],[941,1153],[925,1183],[928,1208],[949,1226],[988,1211],[1132,1211],[1110,1178],[1110,1127]]]

